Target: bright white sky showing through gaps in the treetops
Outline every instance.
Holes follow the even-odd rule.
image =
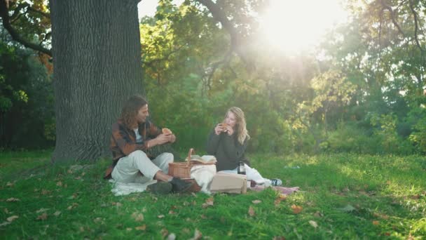
[[[174,0],[180,5],[184,0]],[[341,0],[272,0],[263,24],[263,39],[281,51],[301,51],[317,44],[324,33],[348,17]],[[156,13],[158,0],[137,5],[139,20]]]

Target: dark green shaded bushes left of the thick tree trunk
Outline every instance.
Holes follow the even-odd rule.
[[[0,147],[50,147],[55,140],[53,88],[33,54],[0,43]]]

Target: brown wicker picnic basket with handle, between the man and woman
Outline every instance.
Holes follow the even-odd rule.
[[[181,178],[181,180],[185,180],[186,182],[193,182],[191,189],[189,192],[200,192],[201,187],[197,184],[195,179],[191,178],[191,168],[195,165],[213,165],[216,163],[208,163],[202,164],[197,161],[191,161],[191,155],[194,154],[194,149],[189,149],[188,157],[184,162],[176,162],[169,164],[169,175],[177,178]]]

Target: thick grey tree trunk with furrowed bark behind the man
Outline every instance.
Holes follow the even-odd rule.
[[[144,95],[137,1],[50,0],[56,145],[52,161],[111,156],[123,102]]]

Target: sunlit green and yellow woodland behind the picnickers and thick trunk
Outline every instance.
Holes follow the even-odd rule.
[[[49,48],[46,1],[1,4],[18,36]],[[342,1],[348,20],[297,53],[258,41],[270,1],[216,4],[233,32],[199,1],[160,0],[140,20],[151,117],[172,129],[177,148],[204,150],[209,131],[238,106],[249,152],[426,152],[425,1]],[[52,59],[22,46],[5,23],[0,39],[0,148],[53,148]]]

